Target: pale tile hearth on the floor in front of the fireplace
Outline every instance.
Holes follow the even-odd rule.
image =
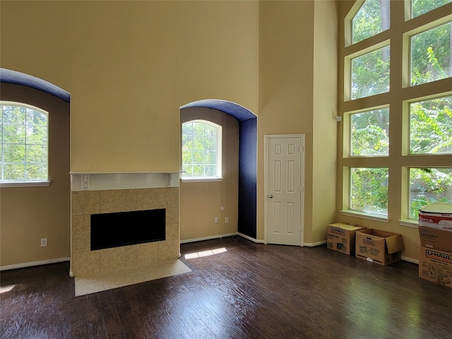
[[[75,278],[76,297],[188,272],[191,272],[191,269],[182,261],[170,259],[158,261],[148,266],[133,266],[83,275]]]

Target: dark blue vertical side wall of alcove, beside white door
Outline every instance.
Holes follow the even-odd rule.
[[[239,229],[256,239],[257,119],[239,123]]]

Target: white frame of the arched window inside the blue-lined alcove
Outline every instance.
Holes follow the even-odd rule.
[[[190,124],[190,123],[198,123],[198,124],[206,124],[210,127],[213,127],[217,133],[216,136],[216,175],[215,176],[209,176],[209,177],[184,177],[184,171],[182,171],[182,174],[180,176],[181,182],[222,182],[222,126],[219,124],[215,124],[213,121],[208,121],[205,119],[191,119],[189,121],[184,121],[181,126],[181,132],[183,131],[184,124]],[[181,133],[181,143],[182,143],[182,136],[183,132]],[[181,149],[181,155],[182,155],[182,169],[184,168],[184,151]]]

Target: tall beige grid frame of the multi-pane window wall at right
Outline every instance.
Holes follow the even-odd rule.
[[[391,227],[403,225],[417,227],[417,220],[408,219],[409,209],[409,168],[410,167],[451,167],[451,154],[409,154],[410,153],[410,102],[434,99],[450,95],[452,78],[444,78],[430,83],[410,85],[410,37],[420,32],[448,23],[452,18],[452,3],[436,8],[425,15],[407,18],[411,11],[410,0],[391,1],[391,28],[366,40],[351,43],[351,19],[362,5],[362,0],[347,5],[343,4],[343,25],[339,42],[339,93],[338,115],[343,117],[343,124],[338,129],[338,175],[340,213],[347,217],[364,218],[378,222],[391,222]],[[355,13],[353,13],[355,11]],[[351,60],[367,52],[391,44],[390,88],[388,93],[371,95],[351,100]],[[449,65],[447,65],[449,66]],[[376,107],[388,106],[390,112],[391,139],[388,156],[351,156],[350,114],[366,112]],[[371,213],[350,210],[350,168],[352,167],[387,167],[388,182],[388,217],[378,218]],[[351,219],[349,218],[351,217]],[[358,222],[358,221],[355,221]],[[378,227],[376,225],[375,227]]]

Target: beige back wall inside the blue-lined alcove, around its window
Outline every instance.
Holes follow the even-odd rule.
[[[181,123],[203,119],[222,126],[222,182],[181,182],[181,240],[237,232],[239,205],[239,123],[208,108],[181,110]],[[223,206],[223,210],[220,207]],[[215,224],[215,217],[218,223]],[[229,222],[225,223],[225,217]]]

